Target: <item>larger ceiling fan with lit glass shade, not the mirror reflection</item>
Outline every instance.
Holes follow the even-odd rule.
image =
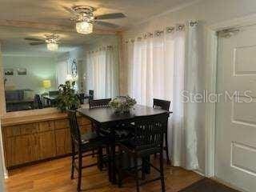
[[[102,22],[104,19],[114,19],[114,18],[126,18],[125,14],[115,13],[115,14],[102,14],[95,16],[94,11],[96,10],[91,6],[73,6],[71,9],[64,7],[71,14],[74,14],[73,18],[70,18],[71,21],[76,22],[76,30],[79,34],[90,34],[93,32],[93,24],[98,24],[101,26],[107,26],[110,28],[118,28],[118,25],[115,25],[110,22]]]

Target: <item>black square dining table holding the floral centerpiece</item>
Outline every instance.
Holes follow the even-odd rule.
[[[115,113],[111,107],[104,108],[96,108],[96,109],[88,109],[81,108],[78,109],[78,113],[86,118],[89,118],[94,125],[97,126],[98,129],[106,129],[110,130],[110,167],[108,170],[109,180],[110,182],[115,183],[115,129],[121,127],[121,125],[126,125],[129,123],[133,123],[135,118],[150,116],[150,115],[164,115],[166,117],[166,122],[168,121],[168,117],[170,116],[170,111],[156,109],[150,106],[142,106],[135,105],[129,113]],[[167,126],[167,123],[166,123]],[[149,157],[150,158],[150,157]]]

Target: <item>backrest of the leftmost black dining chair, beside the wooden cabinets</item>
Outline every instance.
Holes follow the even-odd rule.
[[[75,110],[67,110],[70,120],[70,134],[73,142],[81,143],[81,134],[78,126],[78,119]]]

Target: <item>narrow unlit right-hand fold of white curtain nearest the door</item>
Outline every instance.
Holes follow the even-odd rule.
[[[200,93],[199,86],[199,58],[202,54],[199,39],[202,35],[199,34],[199,22],[188,22],[186,26],[186,68],[185,68],[185,90],[187,93]],[[199,133],[199,118],[198,110],[199,103],[185,103],[185,147],[186,147],[186,168],[189,170],[198,169],[198,134]]]

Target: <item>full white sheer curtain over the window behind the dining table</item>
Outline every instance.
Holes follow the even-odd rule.
[[[152,106],[153,98],[172,102],[174,114],[168,126],[170,156],[174,166],[190,170],[198,169],[197,108],[183,102],[182,91],[190,90],[194,86],[191,81],[197,77],[190,74],[192,69],[195,73],[198,65],[196,27],[196,24],[179,25],[126,41],[125,45],[126,65],[130,70],[129,94],[146,106]]]

